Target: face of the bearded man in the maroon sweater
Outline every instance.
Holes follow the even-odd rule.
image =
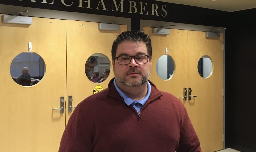
[[[148,55],[147,47],[143,42],[124,41],[117,46],[117,56]],[[120,65],[116,60],[112,60],[116,81],[130,87],[137,87],[148,81],[151,72],[151,60],[146,64],[137,64],[131,58],[130,64]]]

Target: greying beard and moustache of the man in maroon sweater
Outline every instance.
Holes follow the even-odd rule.
[[[137,72],[142,77],[140,79],[138,79],[137,76],[132,76],[132,80],[129,81],[129,80],[126,79],[126,75],[129,74],[130,72]],[[150,74],[151,74],[151,66],[149,67],[149,70],[145,73],[141,72],[141,71],[137,71],[137,68],[132,68],[128,72],[126,72],[122,75],[116,74],[115,68],[114,68],[114,75],[115,75],[116,81],[118,81],[119,83],[121,83],[125,86],[128,86],[128,87],[138,87],[141,84],[144,84],[144,83],[148,82]]]

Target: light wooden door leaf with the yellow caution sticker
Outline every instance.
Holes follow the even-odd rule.
[[[67,99],[72,96],[72,106],[74,107],[92,95],[94,87],[98,85],[103,89],[108,87],[109,81],[114,77],[111,64],[111,47],[116,36],[127,31],[127,26],[120,25],[120,31],[107,31],[99,30],[98,23],[95,22],[68,20],[67,31]],[[86,77],[84,70],[86,60],[95,53],[105,55],[110,61],[108,79],[98,84],[92,83]],[[67,123],[71,116],[71,113],[68,113],[68,102],[66,107]]]

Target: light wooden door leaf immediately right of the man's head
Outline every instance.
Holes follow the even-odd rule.
[[[183,88],[187,86],[187,31],[170,29],[169,35],[152,34],[152,28],[144,27],[152,41],[152,67],[150,81],[152,81],[159,90],[172,93],[179,98],[187,108],[187,102],[183,100]],[[163,80],[156,72],[157,60],[165,54],[174,60],[174,73],[171,79]]]

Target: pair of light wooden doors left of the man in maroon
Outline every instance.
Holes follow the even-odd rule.
[[[126,30],[126,25],[120,25],[119,31],[104,31],[98,23],[36,17],[32,25],[1,22],[0,151],[58,151],[71,115],[69,98],[75,107],[93,94],[95,86],[106,88],[114,76],[110,72],[104,82],[92,83],[85,74],[86,60],[95,53],[111,60],[113,40]],[[35,85],[21,86],[10,74],[13,59],[22,52],[44,60],[44,76]],[[15,64],[23,62],[21,57],[15,60]],[[22,68],[17,70],[21,74]],[[62,109],[61,102],[63,112],[57,110]]]

